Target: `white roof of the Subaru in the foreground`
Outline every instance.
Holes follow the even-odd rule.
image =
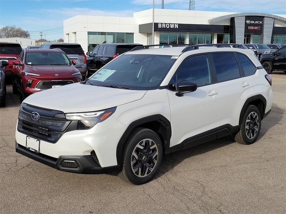
[[[155,55],[169,55],[169,56],[180,56],[182,50],[186,47],[163,47],[163,48],[152,48],[152,49],[141,49],[136,51],[129,51],[124,54],[155,54]],[[243,54],[249,54],[248,49],[233,48],[233,47],[199,47],[198,49],[193,49],[186,51],[188,55],[199,54],[199,53],[208,53],[208,52],[241,52]]]

